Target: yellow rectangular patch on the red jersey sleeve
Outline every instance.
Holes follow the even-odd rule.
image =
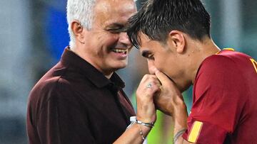
[[[201,127],[202,126],[203,126],[203,122],[201,122],[201,121],[193,122],[193,128],[191,129],[190,134],[188,136],[188,141],[189,142],[196,143],[198,135],[201,132]]]

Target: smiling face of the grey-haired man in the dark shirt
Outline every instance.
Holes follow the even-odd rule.
[[[96,1],[92,28],[84,28],[83,50],[86,60],[104,74],[111,74],[128,63],[132,45],[124,31],[133,13],[136,13],[133,0]]]

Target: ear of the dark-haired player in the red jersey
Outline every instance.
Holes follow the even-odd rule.
[[[168,33],[168,45],[175,48],[176,52],[183,53],[185,50],[185,37],[181,31],[173,30]],[[174,50],[174,49],[173,49]]]

